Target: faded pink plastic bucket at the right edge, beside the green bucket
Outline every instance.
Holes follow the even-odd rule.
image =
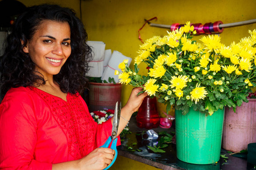
[[[256,99],[248,99],[241,107],[225,109],[222,147],[239,152],[247,149],[249,143],[256,142]]]

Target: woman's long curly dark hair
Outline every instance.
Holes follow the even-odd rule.
[[[5,96],[11,87],[33,86],[35,82],[46,83],[43,76],[36,74],[35,63],[30,56],[23,52],[23,47],[32,39],[44,20],[67,22],[71,29],[71,56],[60,73],[53,75],[53,79],[59,83],[60,90],[75,94],[77,91],[82,92],[87,86],[88,79],[85,74],[89,70],[88,62],[92,50],[86,44],[87,33],[84,25],[72,9],[44,4],[28,7],[16,19],[10,35],[7,36],[5,52],[0,59],[1,97]]]

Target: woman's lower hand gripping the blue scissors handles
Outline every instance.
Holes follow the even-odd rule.
[[[79,160],[79,169],[104,169],[114,159],[114,153],[111,148],[98,147]]]

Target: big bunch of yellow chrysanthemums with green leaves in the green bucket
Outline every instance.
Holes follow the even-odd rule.
[[[196,33],[190,22],[184,27],[168,32],[164,37],[154,36],[144,42],[135,58],[134,70],[127,61],[119,64],[115,74],[122,84],[143,87],[160,103],[188,113],[195,111],[212,115],[224,107],[240,106],[256,83],[256,30],[250,36],[221,44],[218,35],[208,35],[193,41]],[[138,65],[144,62],[150,67],[147,76],[138,74]]]

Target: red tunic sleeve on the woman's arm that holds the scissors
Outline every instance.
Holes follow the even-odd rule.
[[[36,128],[28,92],[10,90],[0,105],[0,169],[52,169],[34,160]]]

